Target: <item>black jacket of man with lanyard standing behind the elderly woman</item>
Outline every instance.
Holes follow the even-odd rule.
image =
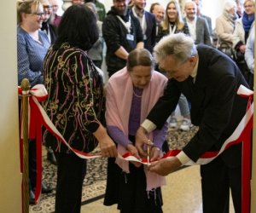
[[[127,39],[128,31],[117,17],[117,11],[113,7],[108,11],[106,19],[103,21],[102,34],[107,44],[106,63],[108,72],[112,75],[126,66],[126,60],[119,58],[114,54],[116,50],[123,47],[128,53],[136,49],[137,43],[143,42],[143,32],[139,21],[130,15],[130,11],[125,16],[120,16],[127,22],[131,17],[131,32],[133,41]],[[110,73],[111,72],[111,73]]]

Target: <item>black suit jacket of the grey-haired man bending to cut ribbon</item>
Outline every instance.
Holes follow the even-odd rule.
[[[247,86],[233,60],[206,45],[197,46],[199,55],[195,83],[168,81],[165,94],[156,103],[148,119],[160,128],[177,106],[183,93],[191,103],[191,122],[199,131],[183,148],[196,161],[202,153],[217,151],[234,132],[244,116],[247,100],[236,95],[241,84]],[[241,144],[231,146],[222,157],[230,165],[241,164]]]

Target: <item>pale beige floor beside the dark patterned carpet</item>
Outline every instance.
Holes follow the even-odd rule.
[[[190,166],[167,176],[163,190],[163,211],[165,213],[201,213],[201,177],[199,166]],[[116,205],[102,204],[103,199],[82,206],[81,213],[118,213]],[[230,204],[230,213],[235,212]]]

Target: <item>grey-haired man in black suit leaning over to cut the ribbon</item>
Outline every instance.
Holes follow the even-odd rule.
[[[177,106],[181,93],[191,103],[191,122],[198,132],[176,157],[161,159],[150,171],[166,176],[207,151],[218,151],[234,132],[247,108],[247,100],[236,95],[247,83],[229,57],[207,45],[195,46],[183,33],[163,38],[154,47],[154,58],[169,78],[165,93],[137,131],[137,149],[143,156],[147,134],[165,123]],[[201,165],[203,212],[229,212],[233,204],[241,212],[241,143],[230,146],[212,162]],[[227,204],[227,205],[226,205]]]

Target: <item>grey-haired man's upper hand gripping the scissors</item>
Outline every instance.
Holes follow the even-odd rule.
[[[143,127],[139,127],[139,129],[137,129],[135,147],[137,147],[137,151],[142,158],[147,158],[147,152],[143,149],[144,144],[148,145],[148,138],[146,134],[147,132]]]

